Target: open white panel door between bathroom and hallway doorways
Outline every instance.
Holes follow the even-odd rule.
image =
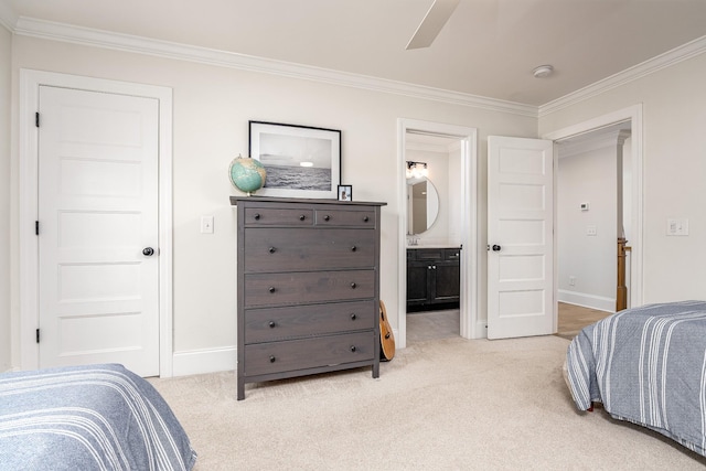
[[[488,138],[488,338],[554,333],[554,143]]]

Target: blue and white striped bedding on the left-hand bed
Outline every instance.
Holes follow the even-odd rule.
[[[121,365],[0,375],[0,470],[190,470],[164,399]]]

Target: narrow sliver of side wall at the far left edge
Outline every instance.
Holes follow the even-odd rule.
[[[10,104],[12,34],[0,25],[0,372],[10,368]]]

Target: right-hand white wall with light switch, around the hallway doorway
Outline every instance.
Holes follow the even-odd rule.
[[[642,104],[644,302],[706,298],[704,83],[700,54],[539,118],[544,136]],[[670,217],[688,218],[689,235],[666,236]]]

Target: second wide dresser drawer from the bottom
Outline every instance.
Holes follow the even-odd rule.
[[[378,322],[375,301],[260,308],[245,311],[245,343],[370,330]]]

